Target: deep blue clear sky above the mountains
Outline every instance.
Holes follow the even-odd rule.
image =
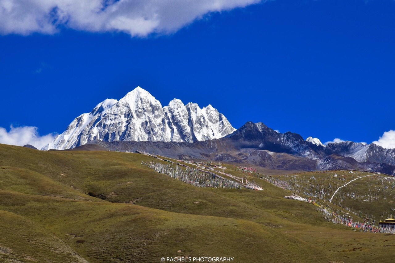
[[[3,16],[0,136],[11,125],[61,133],[136,86],[162,105],[211,104],[235,128],[261,121],[322,142],[367,143],[395,129],[394,0],[233,2],[181,18],[166,7],[145,31],[61,17],[26,29]]]

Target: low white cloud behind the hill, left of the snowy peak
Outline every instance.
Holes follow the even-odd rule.
[[[32,126],[13,127],[11,125],[10,128],[7,131],[5,128],[0,127],[0,143],[18,146],[30,144],[41,149],[56,137],[54,133],[40,136],[38,128]]]

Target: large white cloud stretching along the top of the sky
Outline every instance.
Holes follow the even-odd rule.
[[[54,34],[62,26],[131,36],[175,32],[211,12],[265,0],[0,0],[0,34]]]

